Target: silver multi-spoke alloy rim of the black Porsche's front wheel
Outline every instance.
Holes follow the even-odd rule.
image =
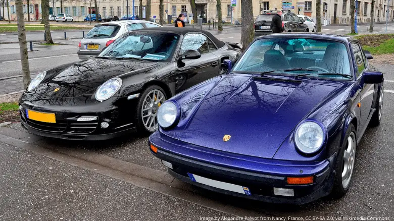
[[[150,91],[143,99],[142,102],[142,123],[146,130],[153,132],[157,130],[157,111],[161,104],[166,101],[161,90],[155,89]]]

